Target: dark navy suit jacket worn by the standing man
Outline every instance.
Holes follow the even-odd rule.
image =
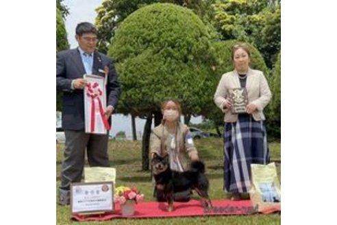
[[[84,129],[84,91],[71,88],[71,82],[83,78],[86,74],[82,58],[78,49],[60,51],[56,54],[56,90],[63,91],[62,128],[66,130]],[[104,54],[95,51],[92,65],[92,74],[105,76],[104,67],[109,67],[106,86],[107,104],[116,108],[121,86],[117,80],[114,62]]]

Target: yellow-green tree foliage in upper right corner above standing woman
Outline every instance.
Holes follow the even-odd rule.
[[[281,47],[281,4],[269,0],[223,0],[214,4],[212,24],[222,40],[255,45],[270,69]]]

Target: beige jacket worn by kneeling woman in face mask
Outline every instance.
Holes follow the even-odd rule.
[[[184,169],[187,169],[188,167],[187,159],[191,158],[192,154],[198,154],[198,152],[192,141],[192,136],[190,135],[190,130],[188,129],[188,126],[180,122],[178,124],[179,124],[177,126],[177,145],[179,145],[179,148],[177,148],[177,150],[179,151],[178,157],[179,162],[183,165]],[[149,151],[150,159],[153,158],[154,153],[160,154],[161,139],[163,140],[164,143],[163,146],[164,152],[170,154],[168,131],[162,124],[160,124],[159,126],[153,128],[151,132],[150,151]]]

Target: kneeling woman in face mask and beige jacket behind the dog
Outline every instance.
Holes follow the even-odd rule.
[[[150,137],[150,158],[153,154],[167,153],[170,159],[170,167],[175,171],[185,171],[187,160],[199,160],[197,149],[193,144],[192,135],[188,126],[180,123],[182,108],[177,100],[169,99],[162,103],[162,123],[153,128]],[[153,181],[154,182],[154,181]],[[175,193],[176,202],[190,200],[191,191]],[[155,197],[158,202],[166,199],[161,190],[155,188]]]

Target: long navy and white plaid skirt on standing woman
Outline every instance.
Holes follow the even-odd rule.
[[[240,114],[234,123],[224,128],[224,190],[249,191],[251,163],[269,163],[265,121],[255,121],[251,115]]]

